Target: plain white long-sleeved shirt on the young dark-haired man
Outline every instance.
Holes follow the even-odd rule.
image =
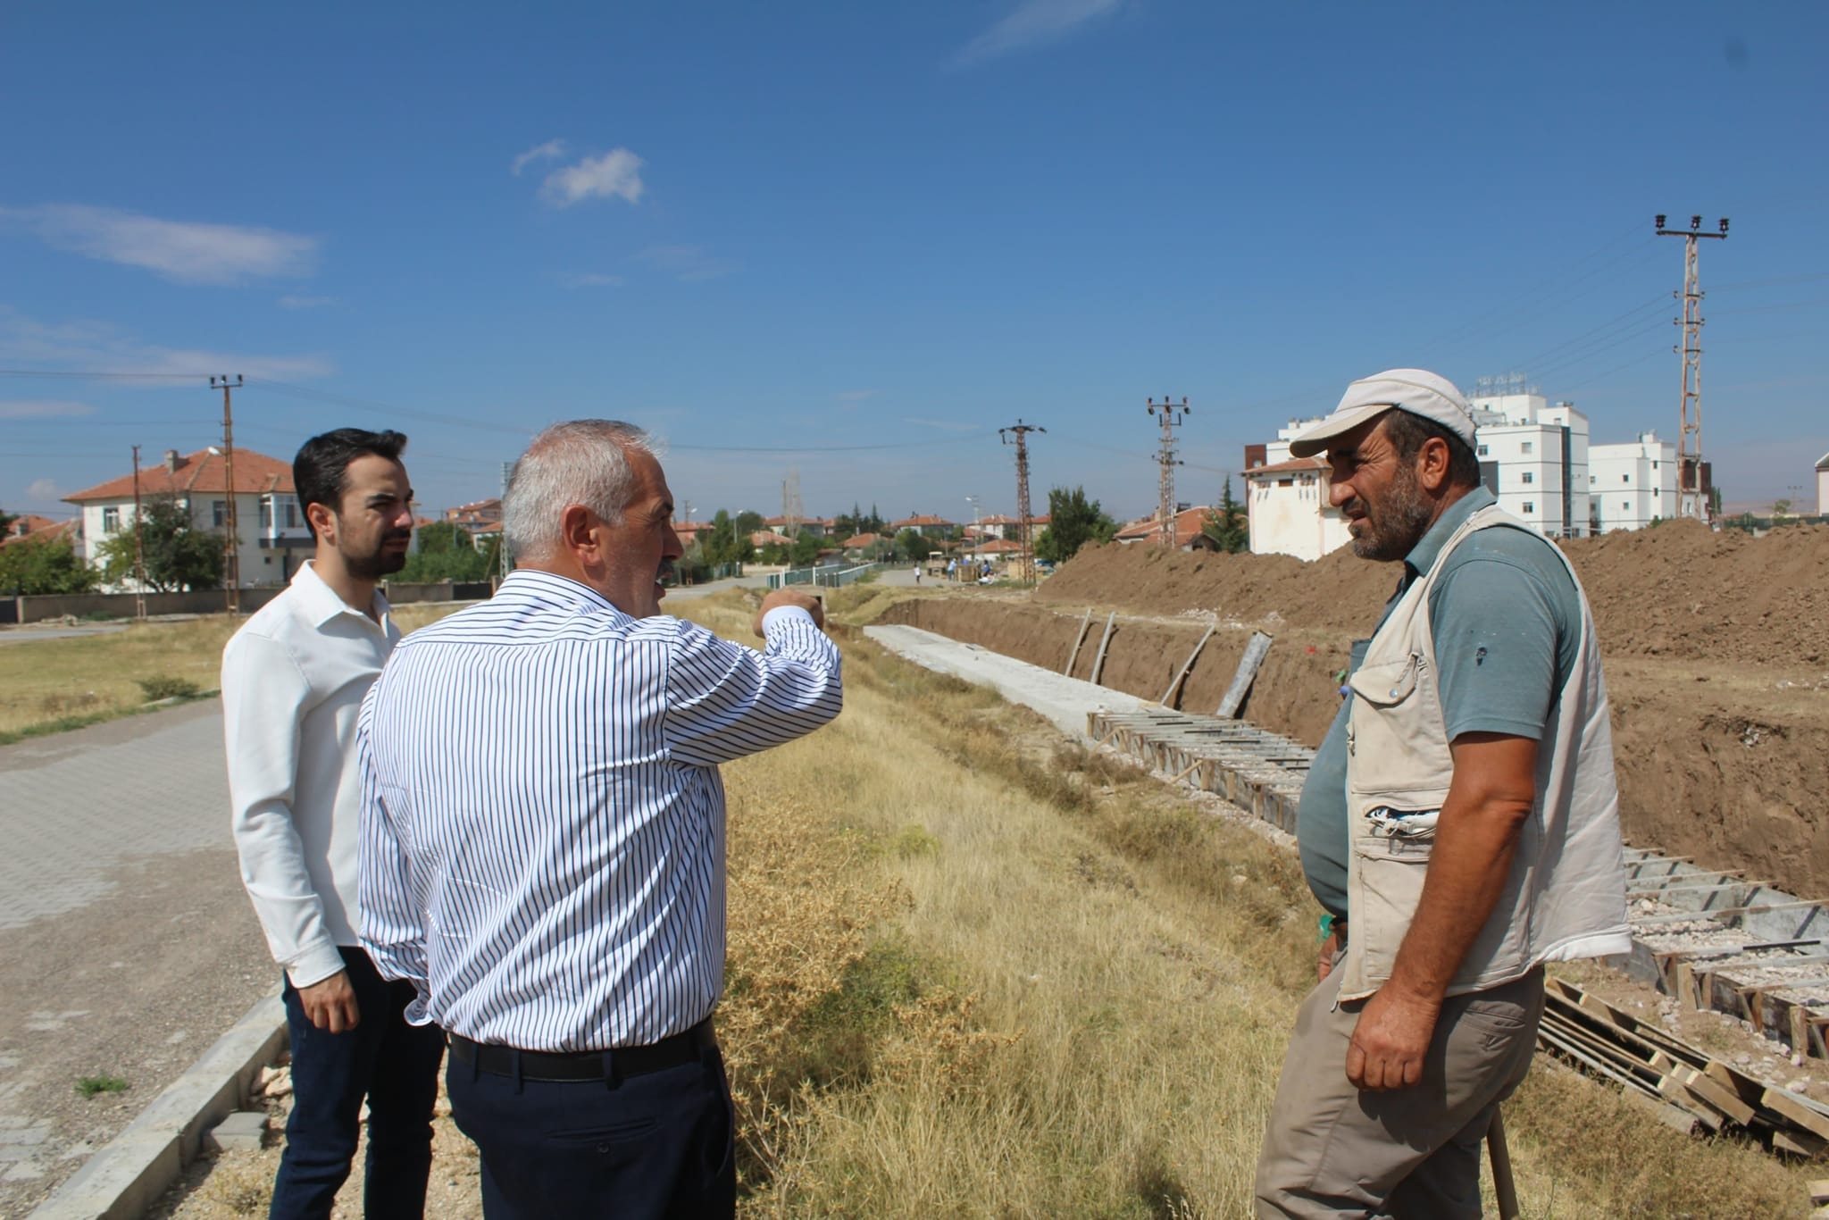
[[[241,882],[294,988],[344,968],[357,936],[362,697],[401,638],[304,563],[223,649],[223,737]]]

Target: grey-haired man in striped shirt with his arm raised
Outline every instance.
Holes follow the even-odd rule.
[[[808,593],[763,600],[761,653],[662,615],[671,521],[638,428],[547,428],[503,498],[518,569],[362,708],[362,942],[450,1032],[488,1220],[735,1209],[717,765],[843,690]]]

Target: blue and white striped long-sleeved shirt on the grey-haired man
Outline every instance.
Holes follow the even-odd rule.
[[[724,986],[717,765],[838,715],[797,607],[763,653],[516,571],[421,627],[362,704],[362,944],[408,1021],[521,1050],[646,1046]]]

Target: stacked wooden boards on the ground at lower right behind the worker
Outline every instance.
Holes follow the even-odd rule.
[[[1679,1130],[1741,1130],[1796,1156],[1829,1149],[1829,1107],[1738,1072],[1571,982],[1547,982],[1536,1041],[1564,1063],[1622,1085]]]

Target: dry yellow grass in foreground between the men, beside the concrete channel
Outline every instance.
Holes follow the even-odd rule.
[[[849,622],[878,604],[827,600]],[[741,598],[690,613],[746,631]],[[1293,858],[838,635],[845,715],[724,768],[743,1215],[1249,1215],[1311,979]],[[1542,1059],[1507,1121],[1527,1216],[1807,1211],[1807,1169],[1679,1136]],[[452,1134],[433,1191],[474,1207]],[[243,1205],[249,1176],[221,1183]],[[192,1198],[174,1215],[223,1215]]]

